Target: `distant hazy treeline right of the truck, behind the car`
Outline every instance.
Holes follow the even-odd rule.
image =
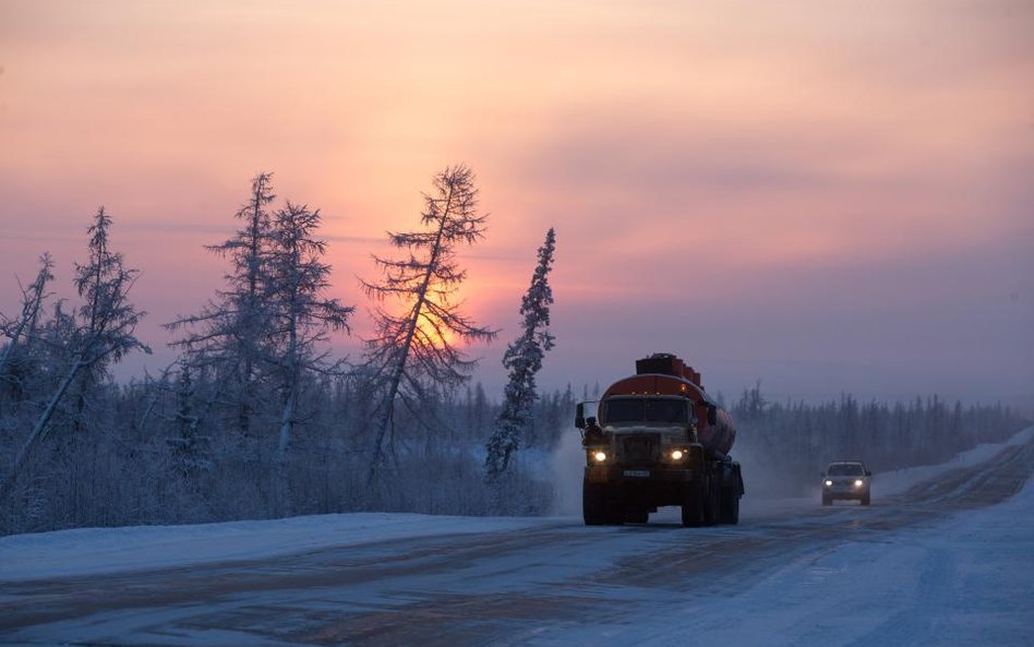
[[[830,460],[861,459],[873,471],[936,465],[1031,424],[1000,404],[963,406],[936,395],[893,404],[851,395],[820,405],[768,402],[760,384],[745,390],[731,412],[738,429],[733,453],[749,464],[748,490],[754,479],[779,495],[809,492]]]

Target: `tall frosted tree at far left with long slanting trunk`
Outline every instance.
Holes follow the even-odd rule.
[[[122,254],[111,251],[108,240],[110,226],[111,218],[104,207],[98,208],[93,225],[87,229],[88,260],[75,265],[75,289],[82,304],[73,316],[63,315],[60,308],[55,311],[56,321],[72,326],[67,331],[61,354],[65,366],[57,369],[63,376],[15,457],[0,498],[17,478],[19,469],[36,444],[50,431],[50,420],[74,383],[77,382],[79,391],[72,426],[81,429],[89,391],[107,374],[108,367],[132,350],[151,352],[151,348],[134,335],[136,325],[146,313],[129,302],[129,291],[139,271],[127,268]],[[67,330],[68,325],[63,328]]]

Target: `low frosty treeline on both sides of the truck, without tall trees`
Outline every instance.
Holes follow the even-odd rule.
[[[480,384],[400,407],[387,439],[383,478],[371,486],[376,430],[362,371],[318,376],[301,388],[308,411],[285,459],[277,453],[280,409],[258,400],[249,433],[239,427],[225,385],[178,368],[119,385],[99,384],[71,424],[74,407],[39,447],[32,469],[3,502],[2,531],[142,524],[188,524],[357,511],[428,514],[549,514],[546,464],[565,434],[576,434],[570,388],[542,394],[531,409],[520,452],[501,486],[488,483],[484,444],[502,404]],[[4,392],[4,456],[19,422],[37,407]],[[207,411],[204,409],[207,408]],[[835,458],[861,458],[876,471],[942,463],[998,442],[1030,421],[998,405],[964,407],[929,397],[820,405],[769,403],[759,387],[731,406],[749,496],[803,495]],[[572,470],[580,469],[580,462]]]

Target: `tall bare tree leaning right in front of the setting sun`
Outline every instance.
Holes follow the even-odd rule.
[[[454,301],[466,278],[456,260],[456,248],[484,237],[488,214],[479,214],[473,172],[464,165],[436,175],[424,194],[421,224],[424,231],[388,232],[389,242],[405,250],[401,259],[374,256],[383,278],[362,280],[363,291],[377,301],[390,299],[400,314],[377,307],[374,336],[366,340],[366,360],[380,385],[377,415],[373,420],[373,448],[368,483],[384,455],[384,441],[401,399],[419,410],[429,394],[455,388],[470,379],[477,360],[467,359],[453,338],[488,342],[495,331],[478,326]]]

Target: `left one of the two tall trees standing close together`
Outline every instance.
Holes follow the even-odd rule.
[[[248,202],[233,214],[242,221],[241,228],[232,238],[206,248],[230,261],[226,289],[199,314],[166,324],[170,331],[187,328],[172,346],[182,348],[195,369],[204,369],[226,386],[236,408],[237,429],[244,436],[251,432],[263,345],[272,335],[263,295],[272,237],[267,205],[275,197],[273,173],[256,175]]]

